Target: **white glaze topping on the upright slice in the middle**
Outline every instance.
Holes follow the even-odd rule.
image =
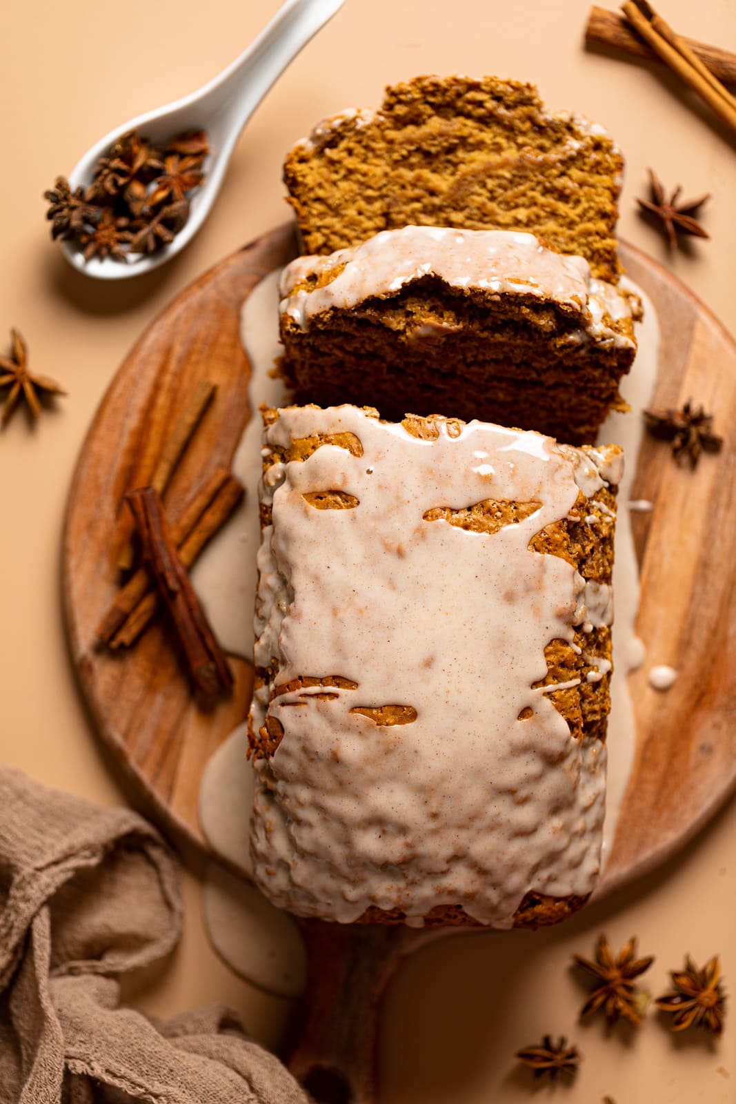
[[[308,276],[332,269],[337,275],[321,287],[294,290]],[[281,276],[281,311],[306,329],[321,311],[350,309],[372,296],[394,295],[429,274],[450,287],[553,300],[578,316],[572,342],[633,347],[631,338],[606,321],[631,317],[628,298],[611,284],[593,279],[584,257],[555,253],[533,234],[505,230],[403,226],[381,231],[328,257],[297,257]]]

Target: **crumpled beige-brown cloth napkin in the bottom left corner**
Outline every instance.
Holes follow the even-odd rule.
[[[306,1104],[228,1009],[161,1023],[119,1007],[115,975],[181,924],[150,825],[0,766],[1,1104]]]

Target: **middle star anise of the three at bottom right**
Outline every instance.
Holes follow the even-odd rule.
[[[608,940],[605,935],[600,935],[596,944],[595,962],[582,958],[580,955],[573,956],[575,965],[595,981],[580,1016],[587,1016],[588,1012],[596,1012],[602,1008],[609,1025],[625,1019],[639,1027],[651,994],[639,991],[633,979],[649,969],[654,959],[651,955],[637,958],[636,954],[636,937],[630,938],[618,958],[615,958]]]

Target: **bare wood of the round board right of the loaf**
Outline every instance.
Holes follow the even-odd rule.
[[[660,266],[630,247],[625,264],[660,319],[652,405],[694,399],[715,412],[725,442],[694,471],[651,436],[639,455],[632,497],[654,503],[632,519],[648,658],[629,676],[637,754],[601,892],[671,856],[736,786],[736,347]],[[658,664],[679,672],[666,693],[648,681]]]

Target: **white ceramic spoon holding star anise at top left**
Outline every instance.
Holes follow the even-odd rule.
[[[64,241],[61,244],[70,264],[97,279],[125,279],[158,268],[183,250],[210,213],[243,127],[277,77],[343,3],[287,0],[247,50],[203,88],[130,119],[88,149],[70,176],[73,189],[92,182],[99,158],[128,130],[141,131],[154,145],[185,130],[206,130],[211,153],[205,162],[205,180],[192,193],[189,221],[170,245],[151,254],[129,253],[119,261],[85,261],[79,248]]]

